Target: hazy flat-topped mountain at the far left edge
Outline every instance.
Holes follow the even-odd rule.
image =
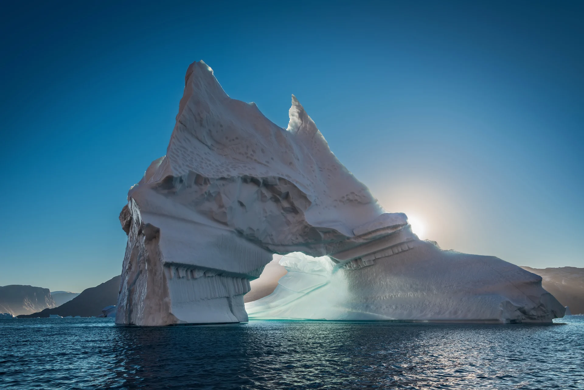
[[[22,284],[0,287],[0,313],[30,314],[55,306],[48,288]]]

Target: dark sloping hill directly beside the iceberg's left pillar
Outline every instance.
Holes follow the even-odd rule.
[[[65,302],[60,307],[44,309],[41,312],[30,315],[19,315],[18,318],[47,318],[51,314],[61,317],[76,316],[82,317],[99,316],[106,306],[117,304],[117,294],[120,291],[121,275],[111,278],[96,287],[86,288],[81,294],[69,302]],[[1,311],[1,309],[0,309]]]

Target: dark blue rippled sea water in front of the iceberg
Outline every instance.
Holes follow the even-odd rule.
[[[0,320],[8,389],[584,389],[584,316],[548,325]]]

